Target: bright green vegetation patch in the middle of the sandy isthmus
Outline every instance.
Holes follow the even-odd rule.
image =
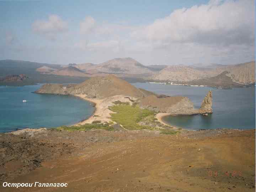
[[[121,124],[125,129],[154,129],[150,126],[138,124],[145,117],[154,116],[153,111],[130,105],[114,105],[109,108],[111,111],[116,112],[111,113],[112,121]]]

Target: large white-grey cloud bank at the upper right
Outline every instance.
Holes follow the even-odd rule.
[[[178,9],[155,20],[132,37],[146,39],[154,47],[173,43],[230,45],[254,43],[255,7],[253,0],[211,0],[207,5]]]

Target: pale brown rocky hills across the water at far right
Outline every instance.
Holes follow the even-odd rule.
[[[203,70],[191,66],[170,65],[147,79],[188,85],[239,87],[239,84],[241,86],[255,83],[255,61],[237,65],[219,65],[217,68]]]

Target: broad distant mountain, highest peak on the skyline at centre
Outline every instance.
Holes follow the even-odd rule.
[[[153,70],[128,57],[115,58],[107,62],[95,65],[94,68],[87,70],[87,73],[145,74],[153,73]]]

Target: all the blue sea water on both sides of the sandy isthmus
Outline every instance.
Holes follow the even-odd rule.
[[[158,94],[187,96],[194,106],[201,106],[204,96],[213,91],[213,114],[207,117],[166,116],[163,121],[185,129],[255,129],[255,87],[215,89],[133,83]],[[91,116],[90,102],[74,96],[34,94],[41,85],[23,87],[0,86],[0,132],[23,128],[58,127],[71,125]],[[22,100],[27,100],[23,103]]]

